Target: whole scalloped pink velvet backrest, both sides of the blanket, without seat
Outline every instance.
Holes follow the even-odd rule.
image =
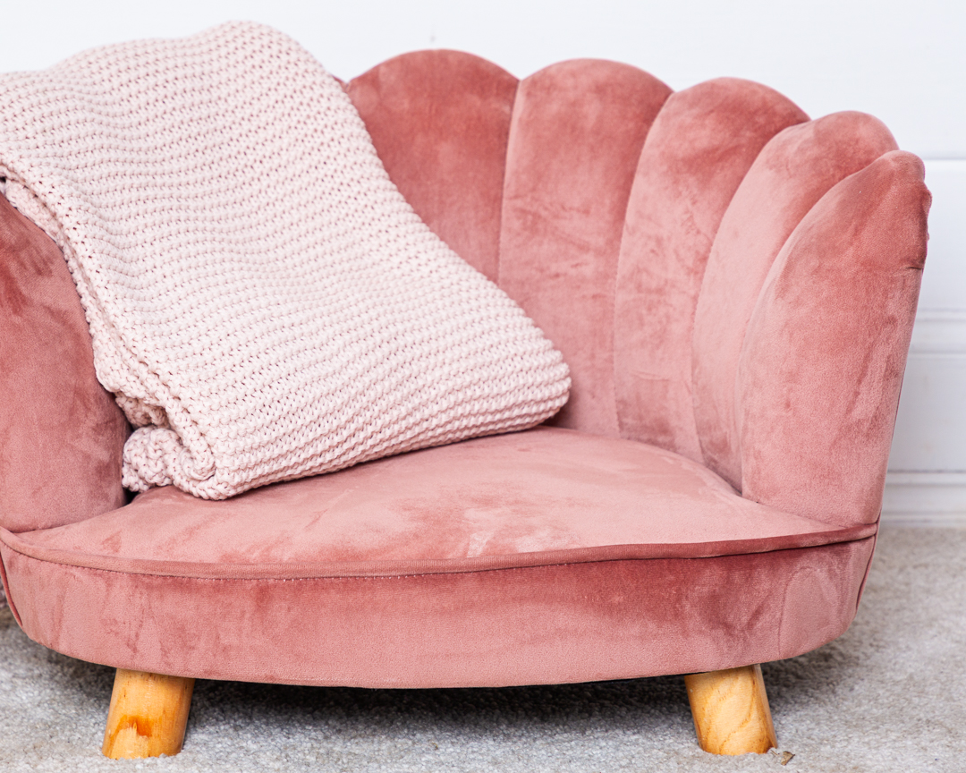
[[[742,80],[671,94],[578,60],[518,82],[439,50],[347,91],[415,211],[562,351],[558,425],[830,524],[877,518],[929,205],[880,123],[809,122]],[[0,258],[0,526],[97,515],[124,501],[127,422],[62,256],[5,200]]]

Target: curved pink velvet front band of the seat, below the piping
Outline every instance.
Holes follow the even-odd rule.
[[[32,558],[6,543],[0,557],[23,629],[73,657],[206,678],[449,687],[791,657],[848,626],[872,540],[708,558],[297,578],[109,571]]]

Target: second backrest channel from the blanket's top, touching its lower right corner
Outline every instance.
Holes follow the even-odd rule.
[[[627,65],[563,62],[522,81],[503,193],[498,283],[570,365],[554,423],[616,435],[612,322],[640,148],[670,90]]]

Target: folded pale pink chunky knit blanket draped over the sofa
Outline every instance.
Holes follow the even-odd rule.
[[[135,491],[223,499],[523,429],[570,385],[297,43],[229,23],[0,76],[0,177],[63,249]]]

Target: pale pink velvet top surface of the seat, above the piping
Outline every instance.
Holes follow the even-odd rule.
[[[541,427],[227,501],[166,486],[87,521],[19,536],[35,550],[105,569],[225,576],[260,567],[291,576],[288,567],[315,573],[314,564],[353,575],[382,573],[381,563],[404,572],[426,561],[519,565],[522,556],[545,562],[615,546],[663,546],[662,555],[679,556],[747,552],[750,540],[797,547],[815,544],[815,535],[828,541],[829,531],[742,499],[670,451]]]

